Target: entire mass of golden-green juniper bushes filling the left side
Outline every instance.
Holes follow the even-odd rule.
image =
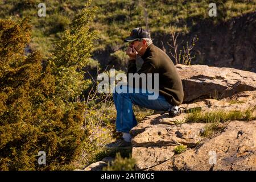
[[[0,168],[2,170],[72,169],[88,140],[82,127],[84,104],[70,102],[88,87],[80,68],[87,63],[94,32],[88,5],[71,23],[51,59],[25,56],[31,26],[0,20]],[[80,72],[78,72],[80,71]],[[38,152],[46,152],[46,165]]]

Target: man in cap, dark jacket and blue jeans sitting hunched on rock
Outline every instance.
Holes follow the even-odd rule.
[[[116,130],[122,132],[123,135],[122,138],[117,139],[115,142],[107,144],[106,147],[108,148],[127,148],[131,146],[129,131],[137,125],[133,104],[152,110],[168,111],[173,108],[177,109],[177,106],[183,102],[184,96],[181,78],[177,73],[174,63],[172,63],[170,57],[162,49],[152,44],[150,34],[147,31],[141,27],[135,28],[131,31],[130,36],[125,39],[125,42],[130,43],[126,51],[126,54],[129,56],[127,81],[129,81],[129,77],[133,79],[131,76],[134,73],[138,73],[137,76],[156,74],[159,79],[152,82],[158,82],[157,89],[159,94],[157,98],[149,99],[149,96],[152,96],[154,93],[147,89],[148,81],[146,81],[146,87],[142,87],[145,82],[139,82],[139,87],[136,88],[136,86],[130,85],[129,81],[128,86],[122,85],[120,88],[115,88],[113,100],[117,109]],[[143,59],[143,64],[139,71],[137,71],[136,65],[137,55]],[[155,77],[152,76],[151,78]],[[147,79],[149,78],[147,77]],[[125,89],[127,92],[118,92],[118,89],[123,89],[122,87],[124,86],[127,87]],[[129,91],[129,87],[132,88],[133,92]]]

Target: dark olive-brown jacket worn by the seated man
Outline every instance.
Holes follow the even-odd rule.
[[[129,60],[127,80],[129,81],[129,73],[159,73],[159,93],[162,94],[171,105],[179,106],[182,104],[184,92],[181,78],[170,57],[162,51],[162,49],[151,44],[147,47],[142,59],[144,62],[138,72],[136,60]]]

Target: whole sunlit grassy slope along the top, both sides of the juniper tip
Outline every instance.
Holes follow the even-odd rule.
[[[20,19],[24,16],[31,18],[34,25],[32,31],[32,49],[39,49],[46,57],[54,47],[54,41],[68,26],[73,16],[81,9],[85,1],[46,0],[46,17],[38,17],[40,0],[3,0],[0,1],[0,18]],[[255,0],[216,1],[217,18],[214,22],[228,20],[234,16],[254,11]],[[224,3],[221,3],[224,2]],[[123,44],[123,38],[129,35],[132,28],[142,26],[146,28],[144,14],[147,12],[148,27],[151,32],[168,32],[170,25],[177,31],[188,32],[189,28],[203,19],[208,19],[209,1],[192,0],[96,0],[93,5],[99,6],[95,23],[92,27],[100,31],[100,39],[96,49],[107,46],[118,49]]]

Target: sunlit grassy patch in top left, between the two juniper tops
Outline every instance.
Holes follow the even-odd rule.
[[[46,17],[39,17],[38,4],[41,2],[40,0],[0,1],[0,18],[11,17],[19,20],[28,16],[34,26],[30,47],[42,51],[44,56],[49,57],[54,41],[60,38],[77,11],[82,9],[84,2],[46,0],[43,1],[46,4]]]

